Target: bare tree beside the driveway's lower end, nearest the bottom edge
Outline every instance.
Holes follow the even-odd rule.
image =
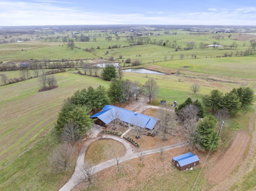
[[[80,174],[77,175],[76,181],[77,183],[86,182],[88,185],[92,185],[95,175],[96,166],[92,161],[85,161],[83,165],[79,166],[81,171]]]

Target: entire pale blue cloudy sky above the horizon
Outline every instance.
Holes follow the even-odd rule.
[[[256,1],[0,1],[0,26],[87,24],[256,25]]]

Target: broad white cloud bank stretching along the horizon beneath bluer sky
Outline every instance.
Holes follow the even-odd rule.
[[[208,9],[210,12],[198,10],[172,10],[169,15],[163,12],[147,12],[146,14],[115,14],[100,9],[84,11],[81,7],[55,5],[60,1],[42,0],[29,2],[0,2],[4,9],[0,12],[0,26],[30,25],[86,25],[86,24],[188,24],[188,25],[256,25],[256,7],[237,8],[233,10]],[[77,4],[73,4],[77,6]]]

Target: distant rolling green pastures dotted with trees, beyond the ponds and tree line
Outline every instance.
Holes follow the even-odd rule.
[[[174,31],[170,31],[174,32]],[[229,49],[229,46],[232,44],[235,39],[235,35],[228,38],[227,33],[200,33],[193,34],[187,31],[176,31],[177,35],[166,35],[164,31],[156,31],[155,33],[160,33],[160,35],[150,35],[147,36],[151,39],[149,44],[144,45],[136,45],[129,47],[130,42],[127,41],[127,38],[133,33],[127,32],[124,34],[119,33],[118,36],[120,39],[117,41],[116,36],[111,32],[108,32],[107,35],[112,36],[111,41],[106,41],[106,34],[101,33],[101,37],[98,36],[98,33],[89,32],[84,33],[84,35],[90,35],[90,41],[85,43],[80,43],[75,41],[75,48],[73,50],[68,49],[67,43],[60,42],[62,41],[62,36],[69,35],[69,39],[71,38],[71,32],[67,32],[66,34],[53,34],[48,35],[47,37],[56,37],[60,36],[58,42],[50,41],[49,39],[45,40],[34,40],[34,41],[25,41],[22,43],[7,43],[0,44],[0,61],[26,61],[30,59],[50,59],[50,60],[58,60],[58,59],[94,59],[94,58],[108,58],[109,56],[113,56],[114,58],[118,58],[119,55],[122,55],[124,58],[131,57],[133,59],[139,59],[142,63],[152,63],[159,62],[164,60],[178,60],[180,59],[180,55],[183,54],[183,59],[192,59],[192,56],[196,55],[197,58],[205,58],[205,57],[216,57],[216,56],[224,56],[225,53],[231,54],[232,57],[236,55],[236,52],[245,51],[248,47],[250,47],[250,42],[247,41],[238,41],[238,47],[236,49]],[[147,32],[143,32],[147,33]],[[78,35],[78,37],[81,33]],[[96,41],[94,42],[92,38],[96,35]],[[216,40],[214,36],[220,35],[220,39]],[[224,38],[222,38],[222,36]],[[137,41],[140,37],[133,35],[134,42]],[[144,36],[142,36],[143,38]],[[46,38],[46,36],[44,36]],[[254,38],[253,35],[251,38]],[[75,38],[73,38],[75,40]],[[156,43],[162,40],[163,42],[169,41],[166,46],[153,44],[154,41]],[[176,41],[177,45],[181,46],[179,51],[175,51],[176,48],[169,47],[172,41]],[[182,51],[183,48],[186,47],[187,42],[194,41],[196,44],[196,49]],[[220,45],[224,45],[225,48],[213,49],[209,47],[207,49],[200,49],[199,43],[204,42],[207,44],[212,44],[213,42],[217,42]],[[243,43],[246,43],[244,46]],[[118,48],[111,48],[113,45],[118,45]],[[120,45],[120,48],[119,48]],[[97,49],[97,47],[100,49]],[[92,52],[96,54],[93,55],[91,53],[83,51],[83,49],[92,49]],[[22,51],[23,49],[23,51]],[[106,54],[108,51],[108,54]],[[140,57],[137,57],[140,55]],[[240,55],[240,53],[239,53]],[[171,58],[172,57],[172,58]]]

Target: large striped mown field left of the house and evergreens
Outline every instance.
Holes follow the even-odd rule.
[[[56,123],[63,100],[89,86],[108,87],[96,77],[56,74],[58,88],[40,93],[38,78],[0,87],[0,167],[26,151],[37,136]]]

